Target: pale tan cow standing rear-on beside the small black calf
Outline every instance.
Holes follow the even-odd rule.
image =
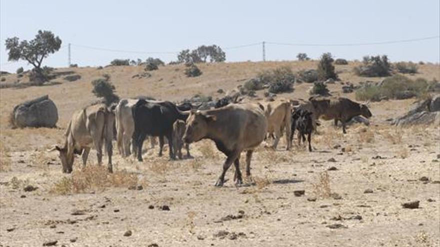
[[[267,133],[274,137],[272,148],[276,149],[279,138],[285,129],[286,150],[290,149],[291,104],[287,100],[275,100],[264,103],[264,115],[267,118]]]

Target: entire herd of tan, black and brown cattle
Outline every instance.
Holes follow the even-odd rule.
[[[235,101],[234,101],[235,102]],[[169,159],[176,154],[182,159],[181,149],[202,139],[212,140],[217,149],[226,155],[223,170],[215,186],[222,186],[228,168],[234,164],[234,181],[242,183],[239,169],[241,153],[246,152],[246,176],[250,177],[252,153],[261,142],[273,139],[271,148],[276,149],[285,132],[286,149],[291,148],[294,132],[298,142],[305,142],[311,152],[311,134],[319,126],[319,117],[334,119],[334,124],[345,125],[355,116],[371,117],[366,104],[343,97],[313,96],[303,104],[277,99],[265,102],[221,102],[215,108],[198,110],[190,103],[174,104],[169,101],[122,99],[117,105],[96,104],[76,111],[66,128],[64,143],[51,150],[59,152],[62,172],[72,172],[74,155],[82,156],[85,166],[88,153],[94,148],[97,162],[102,163],[102,146],[108,157],[108,171],[112,172],[112,140],[116,134],[117,150],[122,157],[133,154],[142,161],[142,145],[146,138],[159,139],[159,156],[162,155],[164,137],[168,141]],[[267,140],[268,141],[268,140]]]

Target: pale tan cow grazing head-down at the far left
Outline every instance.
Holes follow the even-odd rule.
[[[74,154],[82,153],[82,166],[85,167],[90,148],[95,148],[98,164],[102,163],[102,145],[108,155],[108,171],[112,172],[111,155],[113,139],[114,113],[105,105],[88,106],[73,113],[67,129],[62,147],[55,145],[53,150],[59,152],[62,172],[71,173]]]

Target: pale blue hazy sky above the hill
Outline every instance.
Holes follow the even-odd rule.
[[[391,61],[438,62],[439,9],[439,0],[1,0],[0,70],[31,68],[8,61],[4,41],[32,39],[39,29],[62,40],[43,61],[51,67],[68,65],[68,43],[78,66],[149,56],[169,62],[178,51],[202,44],[222,47],[228,62],[261,61],[262,41],[266,60],[273,61],[331,52],[349,60],[386,54]],[[425,37],[434,38],[335,45]]]

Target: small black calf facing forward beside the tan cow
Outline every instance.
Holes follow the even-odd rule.
[[[290,143],[293,139],[293,134],[295,133],[295,130],[298,130],[298,145],[301,143],[301,137],[302,141],[305,142],[305,134],[307,134],[307,141],[308,141],[308,151],[311,152],[311,132],[313,132],[313,118],[312,118],[312,112],[303,110],[303,109],[296,109],[294,112],[292,112],[292,121],[291,121],[291,128],[290,128]]]

